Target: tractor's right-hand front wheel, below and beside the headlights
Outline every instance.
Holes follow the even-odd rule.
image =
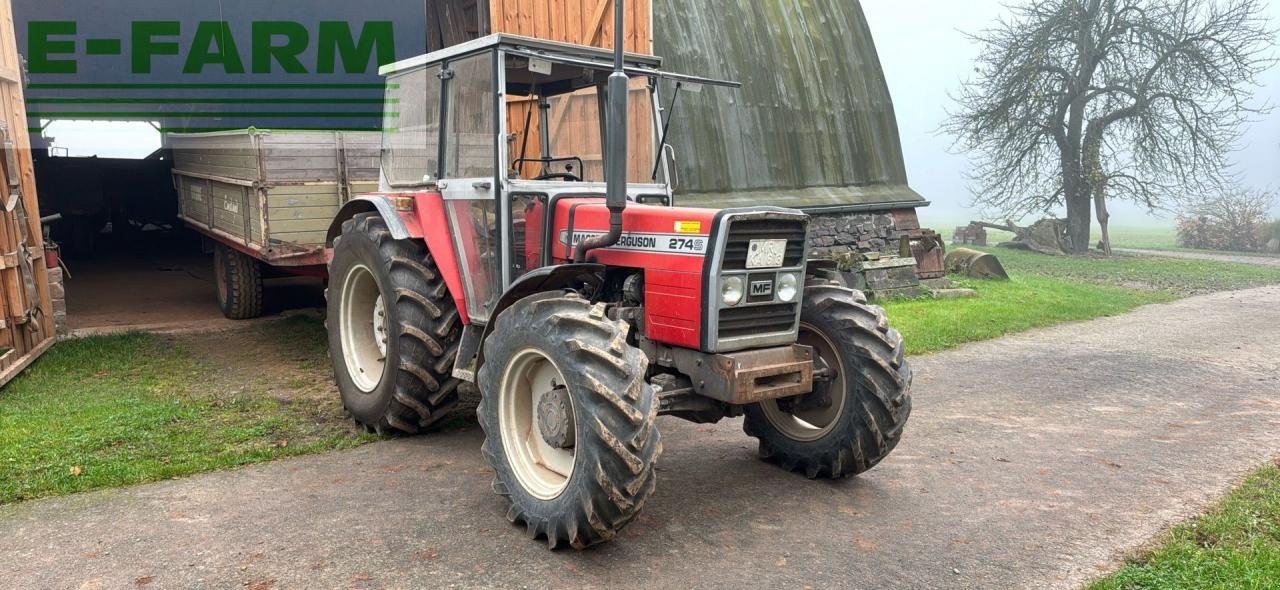
[[[760,457],[809,479],[861,474],[893,450],[911,413],[911,367],[884,310],[829,283],[805,289],[800,344],[827,375],[814,392],[746,408]]]

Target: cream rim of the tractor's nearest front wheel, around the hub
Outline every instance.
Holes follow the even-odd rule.
[[[498,393],[498,429],[507,462],[520,485],[541,500],[558,498],[573,475],[573,449],[547,444],[536,419],[541,397],[564,384],[550,358],[526,348],[507,363]]]

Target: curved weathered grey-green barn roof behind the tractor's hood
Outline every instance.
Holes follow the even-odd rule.
[[[742,82],[682,95],[668,140],[681,202],[922,201],[856,0],[655,0],[653,31],[666,69]]]

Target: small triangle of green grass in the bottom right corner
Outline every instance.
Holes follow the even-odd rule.
[[[1089,590],[1280,586],[1280,467],[1253,474],[1213,511]]]

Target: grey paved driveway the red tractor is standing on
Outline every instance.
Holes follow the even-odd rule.
[[[1277,351],[1272,287],[916,358],[906,439],[842,482],[668,420],[586,553],[506,523],[475,429],[12,506],[0,586],[1073,587],[1280,454]]]

